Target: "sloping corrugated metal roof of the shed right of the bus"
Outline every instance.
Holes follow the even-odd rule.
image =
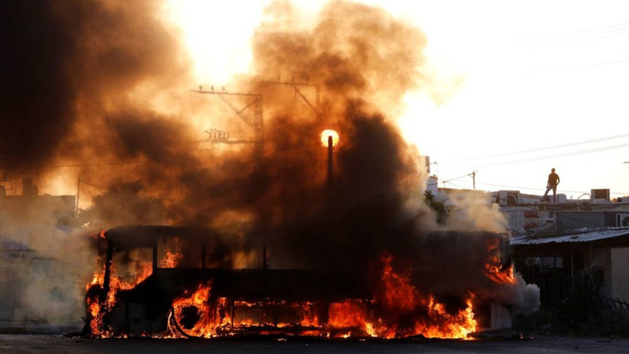
[[[514,236],[509,239],[512,245],[547,244],[547,243],[579,243],[601,239],[629,236],[629,227],[604,227],[601,229],[579,229],[560,234],[537,234]]]

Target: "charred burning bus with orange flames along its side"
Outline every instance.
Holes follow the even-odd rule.
[[[508,237],[494,232],[430,232],[416,251],[421,268],[383,252],[364,272],[274,268],[266,243],[258,266],[238,268],[238,250],[225,238],[172,226],[96,234],[84,333],[467,339],[503,326],[496,312],[505,310],[493,294],[516,283]],[[445,281],[451,277],[457,285]]]

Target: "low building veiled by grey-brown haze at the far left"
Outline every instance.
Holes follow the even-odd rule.
[[[68,323],[81,302],[68,285],[75,274],[59,255],[75,256],[64,243],[73,231],[75,197],[39,195],[28,179],[22,191],[7,195],[0,185],[0,327]]]

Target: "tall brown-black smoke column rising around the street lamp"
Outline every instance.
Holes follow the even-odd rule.
[[[423,34],[381,9],[345,1],[325,6],[313,28],[292,23],[298,16],[287,3],[274,3],[268,11],[271,20],[253,38],[256,71],[263,78],[288,74],[315,83],[323,97],[318,114],[287,105],[292,97],[286,94],[271,98],[272,113],[281,117],[267,124],[265,169],[277,171],[276,197],[269,196],[279,215],[270,219],[281,229],[272,232],[279,234],[277,253],[344,268],[364,266],[384,249],[407,249],[403,244],[416,232],[410,224],[425,212],[407,215],[404,205],[417,197],[425,177],[392,114],[423,75],[418,67],[391,63],[421,53]],[[326,127],[341,134],[331,191],[320,172],[325,149],[315,135]],[[301,154],[292,161],[291,141],[298,142]]]

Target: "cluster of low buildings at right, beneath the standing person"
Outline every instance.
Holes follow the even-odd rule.
[[[436,176],[427,189],[446,205],[456,193],[478,193],[438,188]],[[612,200],[608,189],[576,200],[559,193],[556,202],[518,190],[487,194],[506,219],[516,270],[540,287],[543,305],[559,306],[577,287],[629,301],[629,198]]]

